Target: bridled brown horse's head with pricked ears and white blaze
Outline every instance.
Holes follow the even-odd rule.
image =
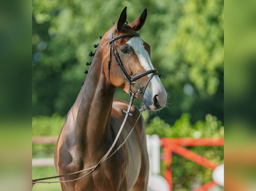
[[[109,37],[111,49],[105,74],[108,74],[110,84],[127,93],[136,93],[147,110],[159,110],[166,103],[167,93],[152,65],[150,46],[136,33],[143,27],[146,18],[147,9],[144,9],[128,25],[125,7],[114,26],[106,32],[104,37]],[[115,60],[111,59],[113,57]]]

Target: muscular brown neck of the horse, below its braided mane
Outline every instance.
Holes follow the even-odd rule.
[[[75,126],[78,141],[86,141],[91,149],[97,149],[95,147],[100,147],[101,141],[108,140],[116,89],[106,81],[107,76],[103,69],[107,65],[108,56],[106,50],[101,47],[104,46],[99,45],[86,81],[74,104],[77,109]]]

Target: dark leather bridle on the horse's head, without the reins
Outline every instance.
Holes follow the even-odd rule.
[[[115,57],[115,60],[117,62],[117,65],[119,66],[122,74],[124,75],[125,79],[128,81],[129,83],[129,91],[130,91],[130,95],[133,93],[131,88],[132,88],[132,84],[136,84],[139,89],[138,89],[138,92],[135,93],[135,94],[138,94],[138,93],[142,93],[141,94],[141,98],[143,98],[143,95],[145,93],[145,89],[148,85],[148,83],[150,82],[150,80],[153,78],[154,75],[158,75],[157,73],[157,70],[148,70],[148,71],[145,71],[145,72],[142,72],[138,75],[135,75],[133,77],[130,77],[129,74],[126,72],[125,68],[124,68],[124,65],[122,64],[122,61],[120,60],[120,57],[119,57],[119,54],[116,50],[116,47],[114,45],[114,41],[117,40],[117,39],[120,39],[120,38],[125,38],[125,37],[140,37],[140,34],[139,33],[130,33],[130,34],[123,34],[123,35],[118,35],[116,37],[113,38],[113,33],[112,33],[112,28],[110,29],[109,31],[109,44],[110,44],[110,54],[109,54],[109,60],[108,60],[108,76],[109,76],[109,81],[110,81],[110,65],[111,65],[111,55],[113,54],[114,57]],[[111,54],[112,52],[112,54]],[[135,80],[143,77],[143,76],[146,76],[148,74],[151,74],[151,76],[148,78],[146,84],[144,85],[144,88],[141,89],[140,88],[140,85],[136,82],[134,82]],[[158,75],[159,76],[159,75]],[[110,81],[111,83],[111,81]],[[112,83],[111,83],[112,84]]]

